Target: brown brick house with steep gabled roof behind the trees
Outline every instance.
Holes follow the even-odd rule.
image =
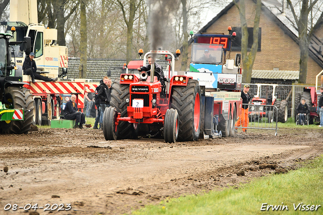
[[[252,32],[255,4],[253,0],[246,0],[245,4],[247,20],[252,14],[248,22],[249,32]],[[284,21],[286,17],[283,16],[273,5],[262,4],[258,35],[259,45],[253,65],[252,82],[279,82],[283,84],[292,83],[298,79],[300,50],[296,36],[297,31],[292,25]],[[202,29],[194,33],[228,34],[228,26],[238,31],[241,26],[239,12],[233,2]],[[239,36],[238,31],[237,37]],[[315,76],[323,69],[323,58],[322,54],[319,53],[319,46],[323,45],[322,37],[323,27],[315,32],[309,48],[307,84],[315,84]],[[191,42],[192,40],[189,41],[188,47],[189,59],[191,57]],[[236,53],[241,53],[239,44],[233,46],[230,59],[233,59]],[[321,48],[323,49],[323,47]],[[189,63],[187,68],[189,68]],[[180,67],[181,56],[179,61],[176,62],[175,70],[180,70]],[[284,77],[282,74],[284,74]],[[285,79],[286,77],[289,78]]]

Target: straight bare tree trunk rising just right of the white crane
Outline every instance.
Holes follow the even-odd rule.
[[[86,29],[86,0],[80,0],[80,78],[86,78],[86,62],[87,62],[87,29]]]

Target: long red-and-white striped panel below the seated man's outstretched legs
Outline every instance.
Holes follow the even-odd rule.
[[[36,82],[30,83],[31,93],[84,94],[84,82]]]

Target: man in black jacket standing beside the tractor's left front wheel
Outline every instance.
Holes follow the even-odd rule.
[[[100,101],[101,106],[101,119],[100,124],[103,125],[103,114],[105,111],[105,108],[110,106],[110,100],[111,100],[111,79],[109,79],[107,76],[103,77],[103,83],[100,84],[100,89],[97,94]],[[102,130],[103,127],[100,126],[100,129]]]

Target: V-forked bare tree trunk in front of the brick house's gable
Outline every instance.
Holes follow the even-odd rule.
[[[235,5],[238,8],[240,21],[241,21],[241,60],[243,63],[243,76],[242,83],[250,83],[251,82],[251,74],[252,74],[252,66],[257,54],[258,48],[258,31],[259,31],[259,21],[260,21],[260,13],[261,13],[261,0],[257,0],[255,16],[253,20],[253,43],[251,46],[251,50],[248,54],[248,19],[246,18],[246,5],[245,0],[240,0],[239,5],[234,1]]]

